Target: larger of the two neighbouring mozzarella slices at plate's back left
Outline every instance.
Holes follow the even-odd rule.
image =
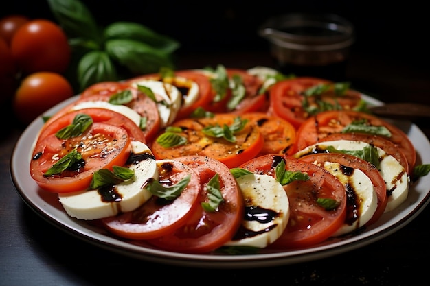
[[[152,93],[161,97],[157,102],[157,108],[161,119],[161,128],[169,126],[173,123],[181,108],[181,92],[179,89],[167,82],[159,80],[141,80],[133,82],[134,86],[146,86],[150,88]]]

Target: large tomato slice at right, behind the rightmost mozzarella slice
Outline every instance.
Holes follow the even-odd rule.
[[[361,121],[363,119],[370,126],[385,126],[391,132],[391,136],[383,136],[383,138],[392,141],[398,150],[405,154],[409,165],[409,167],[405,168],[406,170],[414,168],[416,151],[407,134],[392,123],[365,112],[333,110],[321,112],[314,117],[310,117],[297,130],[297,150],[302,150],[308,145],[313,145],[329,134],[341,133],[345,126],[348,126],[353,121]]]

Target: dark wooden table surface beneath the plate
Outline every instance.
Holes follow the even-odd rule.
[[[184,56],[179,67],[216,64],[248,68],[270,66],[273,62],[267,53],[202,54]],[[407,100],[430,104],[429,71],[420,65],[396,62],[383,56],[356,54],[348,64],[347,77],[354,87],[385,102]],[[0,285],[145,285],[148,283],[146,279],[175,285],[212,281],[231,285],[258,282],[279,285],[281,281],[282,285],[425,285],[428,281],[428,206],[396,233],[368,246],[316,261],[256,270],[163,265],[90,245],[46,222],[21,200],[14,189],[10,178],[10,157],[23,128],[12,123],[7,111],[8,107],[3,106]],[[430,124],[426,121],[416,124],[430,138]]]

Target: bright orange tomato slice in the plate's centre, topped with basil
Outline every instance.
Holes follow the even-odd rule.
[[[234,133],[235,142],[227,141],[223,137],[208,136],[202,131],[208,126],[231,126],[236,117],[238,115],[225,113],[214,117],[176,121],[172,126],[181,128],[182,131],[176,134],[185,138],[186,142],[174,147],[163,147],[159,142],[152,141],[152,153],[157,159],[174,159],[187,155],[209,156],[229,168],[237,167],[262,150],[264,141],[258,126],[248,121],[245,128]]]

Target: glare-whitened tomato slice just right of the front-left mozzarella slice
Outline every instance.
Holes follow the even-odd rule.
[[[177,184],[188,175],[191,176],[190,182],[172,201],[152,195],[135,211],[102,219],[102,224],[111,233],[128,239],[155,239],[172,233],[188,222],[198,206],[199,175],[177,160],[159,160],[157,167],[159,182],[165,187]]]

